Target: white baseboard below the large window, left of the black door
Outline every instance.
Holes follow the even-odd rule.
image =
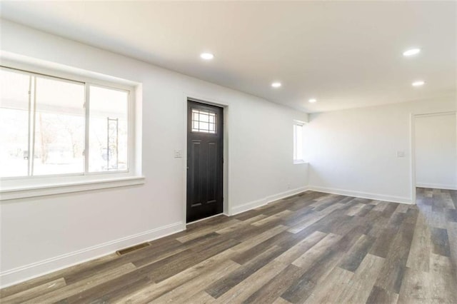
[[[81,250],[76,250],[71,253],[59,255],[54,258],[40,260],[29,265],[24,265],[18,268],[13,268],[0,273],[0,288],[5,288],[10,285],[21,283],[24,280],[52,273],[56,270],[70,267],[79,263],[84,263],[88,260],[94,260],[101,256],[114,253],[116,250],[131,247],[149,240],[163,238],[166,235],[177,233],[185,230],[186,224],[179,222],[167,226],[154,228],[134,235],[129,235],[117,240],[111,240],[106,243],[94,245]]]

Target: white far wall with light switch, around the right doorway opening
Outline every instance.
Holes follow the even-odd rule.
[[[412,203],[411,113],[455,110],[449,96],[311,114],[310,188]]]

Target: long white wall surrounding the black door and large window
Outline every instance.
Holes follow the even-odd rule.
[[[184,228],[184,158],[174,150],[184,148],[186,96],[229,105],[230,213],[308,183],[292,159],[293,119],[306,113],[9,21],[1,50],[142,83],[146,176],[144,186],[2,201],[1,285]]]

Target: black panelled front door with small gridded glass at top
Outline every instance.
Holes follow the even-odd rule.
[[[187,102],[187,223],[222,213],[224,112]]]

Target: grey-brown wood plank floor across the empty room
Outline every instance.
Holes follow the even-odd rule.
[[[457,303],[457,191],[307,191],[0,291],[1,303]]]

